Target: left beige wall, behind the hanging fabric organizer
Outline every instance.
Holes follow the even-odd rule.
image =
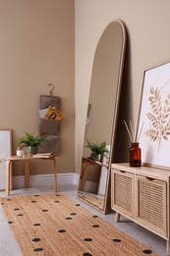
[[[13,129],[13,154],[24,131],[38,133],[39,96],[62,98],[59,172],[75,171],[74,0],[0,0],[0,129]],[[22,166],[15,166],[22,174]],[[31,174],[51,172],[31,164]]]

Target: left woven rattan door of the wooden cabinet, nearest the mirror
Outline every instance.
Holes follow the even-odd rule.
[[[111,207],[132,219],[135,217],[134,177],[133,173],[112,169]]]

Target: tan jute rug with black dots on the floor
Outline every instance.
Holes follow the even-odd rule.
[[[62,194],[0,200],[23,255],[156,255]]]

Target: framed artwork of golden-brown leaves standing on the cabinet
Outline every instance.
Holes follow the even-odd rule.
[[[170,169],[170,61],[143,72],[137,138],[143,164]]]

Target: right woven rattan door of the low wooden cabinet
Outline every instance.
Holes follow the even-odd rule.
[[[137,217],[139,224],[166,237],[166,189],[165,181],[137,175]]]

